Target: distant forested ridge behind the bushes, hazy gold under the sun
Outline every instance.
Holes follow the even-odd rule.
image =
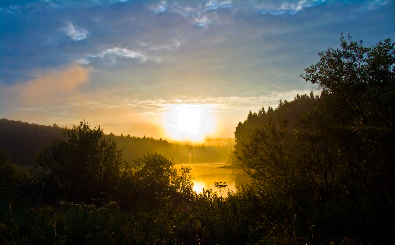
[[[9,159],[20,166],[31,166],[34,156],[49,140],[62,137],[64,128],[44,126],[21,121],[0,120],[0,146],[8,151]],[[130,163],[147,152],[162,153],[165,157],[174,158],[174,163],[208,163],[225,162],[233,150],[233,138],[206,139],[203,144],[184,142],[169,142],[152,137],[135,137],[121,135],[104,135],[117,142],[117,147],[123,149],[123,158]]]

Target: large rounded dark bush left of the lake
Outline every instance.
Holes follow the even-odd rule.
[[[34,174],[44,200],[66,198],[75,202],[99,193],[115,195],[128,163],[122,161],[116,143],[102,138],[103,131],[85,122],[65,129],[36,156]]]

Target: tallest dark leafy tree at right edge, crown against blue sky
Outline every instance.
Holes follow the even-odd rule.
[[[362,188],[394,195],[395,43],[363,47],[341,36],[341,49],[319,55],[303,77],[318,84],[322,96],[298,125],[299,139],[310,139],[302,158],[325,165],[316,175],[331,179],[319,183],[328,198]]]

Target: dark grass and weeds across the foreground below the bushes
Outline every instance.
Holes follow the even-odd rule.
[[[199,205],[162,203],[147,208],[140,203],[127,210],[114,201],[101,206],[60,201],[30,208],[22,202],[3,203],[0,244],[354,245],[388,241],[394,231],[388,219],[393,217],[393,204],[384,222],[377,219],[378,207],[373,210],[367,200],[361,201],[365,206],[344,201],[290,207],[244,189],[223,198],[204,190],[194,201]]]

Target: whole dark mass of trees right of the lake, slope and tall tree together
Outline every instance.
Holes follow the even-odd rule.
[[[269,192],[394,195],[395,44],[363,47],[348,37],[302,75],[320,96],[250,112],[236,128],[241,166]]]

